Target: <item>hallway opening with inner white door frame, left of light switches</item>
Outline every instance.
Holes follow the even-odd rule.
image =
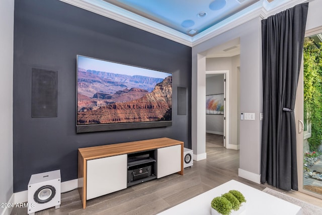
[[[222,50],[222,51],[220,51]],[[226,50],[226,51],[223,51]],[[227,53],[228,52],[228,53]],[[225,171],[238,175],[239,168],[239,39],[205,53],[205,147],[207,159],[221,155]],[[225,70],[222,70],[225,69]],[[207,108],[209,99],[212,107]],[[221,102],[220,102],[220,99]],[[219,100],[219,101],[218,101]],[[216,103],[216,101],[218,101]],[[214,104],[214,105],[213,105]],[[223,105],[223,112],[220,108]],[[213,112],[211,112],[214,110]],[[218,161],[219,162],[219,161]],[[226,166],[225,166],[226,165]]]

